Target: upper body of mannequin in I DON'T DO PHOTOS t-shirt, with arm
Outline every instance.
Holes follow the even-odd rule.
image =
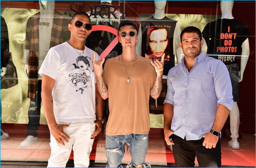
[[[250,33],[247,30],[246,25],[242,24],[241,22],[237,21],[233,15],[232,15],[232,8],[233,8],[233,1],[221,1],[220,2],[220,10],[222,12],[222,17],[212,23],[209,23],[205,26],[204,31],[203,31],[203,37],[205,38],[205,42],[204,42],[204,46],[206,46],[206,48],[208,48],[208,51],[204,53],[207,54],[209,56],[209,54],[219,54],[219,55],[238,55],[238,52],[240,50],[240,48],[242,48],[242,57],[239,56],[239,59],[241,58],[241,63],[240,63],[240,71],[239,71],[239,82],[243,80],[243,74],[244,74],[244,69],[246,67],[248,58],[249,58],[249,53],[250,53],[250,47],[249,47],[249,40],[248,37],[250,36]],[[211,35],[212,33],[215,33],[214,30],[211,30],[211,27],[213,28],[215,26],[215,24],[217,24],[217,31],[220,31],[220,38],[216,38],[213,39],[213,35]],[[225,25],[225,26],[224,26]],[[232,26],[228,26],[228,25],[233,25]],[[236,27],[234,27],[236,25]],[[224,27],[221,29],[221,27]],[[220,30],[221,29],[221,30]],[[209,32],[209,34],[208,34]],[[218,32],[217,32],[218,33]],[[228,35],[228,34],[232,34],[232,39],[230,39],[231,37],[227,38],[224,37],[224,35]],[[211,39],[211,40],[209,40]],[[221,42],[220,44],[216,43],[217,41]],[[227,41],[229,42],[229,44],[227,44]],[[212,43],[216,43],[216,46],[220,46],[220,48],[214,48],[212,49],[212,46],[214,46],[214,44]],[[209,46],[207,46],[209,45]],[[203,47],[204,47],[203,46]],[[224,48],[222,48],[224,47]],[[225,47],[233,47],[233,51],[232,50],[227,50],[227,48]],[[224,50],[222,50],[224,49]],[[226,49],[226,50],[225,50]],[[226,65],[232,64],[232,63],[236,63],[236,59],[237,57],[232,60],[227,62],[225,60],[225,58],[223,56],[217,58],[219,60],[222,60]],[[235,61],[235,62],[234,62]]]

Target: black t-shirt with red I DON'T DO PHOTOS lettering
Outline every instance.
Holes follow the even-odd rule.
[[[202,35],[208,47],[207,56],[226,65],[237,62],[243,42],[250,37],[247,26],[236,19],[218,19],[208,23]]]

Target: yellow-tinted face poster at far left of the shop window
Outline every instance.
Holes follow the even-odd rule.
[[[39,12],[37,9],[1,8],[9,38],[9,51],[17,70],[18,84],[1,89],[2,122],[26,123],[28,121],[28,108],[30,99],[28,94],[28,78],[24,74],[23,47],[26,37],[28,19]]]

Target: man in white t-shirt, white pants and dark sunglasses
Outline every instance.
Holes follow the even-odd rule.
[[[84,12],[74,14],[68,29],[70,39],[52,47],[38,71],[51,133],[48,167],[66,167],[72,148],[75,167],[88,167],[94,137],[104,122],[92,66],[94,52],[84,46],[92,29],[90,17]]]

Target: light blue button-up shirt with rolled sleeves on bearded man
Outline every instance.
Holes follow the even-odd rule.
[[[202,52],[188,72],[180,64],[170,69],[164,103],[173,104],[171,130],[187,140],[198,140],[210,132],[219,104],[232,109],[232,86],[228,69],[220,60]]]

